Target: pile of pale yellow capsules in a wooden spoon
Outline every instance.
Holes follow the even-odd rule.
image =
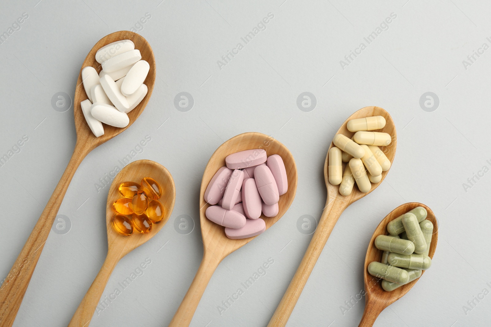
[[[339,185],[339,193],[348,196],[353,186],[367,193],[372,183],[382,179],[382,172],[389,170],[390,160],[379,146],[388,146],[392,138],[390,134],[372,132],[385,126],[382,116],[352,119],[348,122],[348,130],[355,132],[350,139],[343,134],[336,134],[329,149],[328,173],[329,183]],[[347,162],[343,172],[343,162]]]

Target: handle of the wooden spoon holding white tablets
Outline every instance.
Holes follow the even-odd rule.
[[[12,326],[75,171],[90,149],[77,143],[65,172],[0,288],[0,326]]]

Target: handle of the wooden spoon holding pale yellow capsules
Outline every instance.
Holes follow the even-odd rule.
[[[285,326],[288,318],[290,318],[293,308],[300,298],[303,287],[307,283],[308,277],[314,269],[315,263],[319,259],[334,225],[336,225],[339,216],[341,216],[341,213],[346,208],[342,201],[338,202],[336,199],[337,197],[329,202],[329,198],[327,198],[326,207],[319,220],[319,225],[310,240],[310,244],[303,255],[295,276],[276,307],[268,327]]]

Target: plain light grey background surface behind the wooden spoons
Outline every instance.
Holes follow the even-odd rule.
[[[341,306],[363,289],[368,241],[388,212],[409,201],[434,210],[440,223],[436,255],[432,268],[375,326],[489,325],[491,295],[468,310],[464,305],[482,298],[483,289],[491,291],[491,173],[466,190],[463,185],[483,166],[491,168],[491,50],[474,55],[467,67],[463,63],[483,43],[491,46],[487,1],[38,1],[0,5],[1,33],[28,14],[0,44],[0,155],[28,137],[0,167],[1,279],[75,145],[73,106],[55,111],[53,95],[65,92],[73,99],[87,52],[123,29],[137,27],[151,44],[157,79],[136,123],[92,151],[75,174],[59,209],[71,229],[50,233],[14,326],[68,324],[107,252],[108,187],[98,193],[95,184],[146,135],[151,141],[134,160],[155,160],[171,172],[174,211],[158,235],[116,266],[104,296],[145,258],[152,261],[90,326],[166,326],[203,253],[198,194],[205,165],[220,144],[247,131],[272,135],[292,151],[297,196],[272,228],[223,260],[191,326],[266,326],[311,238],[300,233],[297,221],[302,215],[318,220],[324,207],[323,164],[334,132],[368,105],[383,107],[395,121],[393,167],[377,191],[341,216],[288,326],[357,326],[364,300],[348,311]],[[146,13],[151,18],[137,25]],[[274,18],[266,29],[245,44],[241,37],[268,13]],[[367,45],[364,37],[391,13],[397,17]],[[343,69],[340,61],[362,42],[366,49]],[[220,69],[217,61],[238,43],[244,49]],[[174,107],[180,92],[194,99],[188,112]],[[302,92],[316,97],[310,112],[297,107]],[[433,112],[420,107],[426,92],[439,99]],[[180,215],[196,223],[188,235],[173,227]],[[268,258],[274,263],[267,274],[244,289],[241,282]],[[244,294],[220,315],[218,305],[238,288]]]

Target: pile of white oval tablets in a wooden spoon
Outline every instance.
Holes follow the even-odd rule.
[[[150,65],[141,60],[140,50],[131,40],[109,43],[97,50],[95,59],[102,66],[97,71],[92,66],[82,69],[82,83],[87,100],[80,102],[83,116],[96,137],[104,134],[102,123],[126,127],[128,113],[147,95],[143,82]]]

